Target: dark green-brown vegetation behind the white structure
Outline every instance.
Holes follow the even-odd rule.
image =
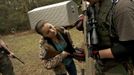
[[[29,10],[61,1],[65,0],[0,0],[0,34],[29,30]]]

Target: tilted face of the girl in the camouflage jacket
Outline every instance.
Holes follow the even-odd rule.
[[[53,38],[57,35],[57,30],[52,24],[45,23],[42,27],[42,33],[44,37]]]

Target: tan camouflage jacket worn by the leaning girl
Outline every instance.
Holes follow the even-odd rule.
[[[63,30],[63,29],[62,29]],[[67,30],[63,30],[64,33],[68,35],[70,42],[72,40],[70,38],[69,32]],[[40,40],[40,58],[44,61],[44,67],[46,69],[52,69],[62,64],[62,60],[66,57],[61,54],[61,52],[57,51],[48,41],[44,38]]]

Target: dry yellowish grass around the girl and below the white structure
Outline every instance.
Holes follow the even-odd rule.
[[[71,36],[74,44],[80,46],[83,42],[82,32],[71,29]],[[16,56],[21,58],[26,64],[23,65],[15,59],[13,62],[16,75],[54,75],[50,70],[44,69],[39,59],[38,40],[40,36],[34,32],[17,33],[14,35],[3,36],[2,39]],[[82,65],[76,61],[78,73]]]

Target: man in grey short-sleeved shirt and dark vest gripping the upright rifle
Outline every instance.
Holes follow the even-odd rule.
[[[100,47],[94,54],[100,59],[126,59],[131,57],[134,61],[134,1],[132,0],[87,0],[96,7],[96,20],[98,22],[99,43],[112,42],[110,46]],[[89,17],[90,18],[90,17]],[[101,26],[107,26],[110,31],[109,39],[100,38]],[[110,30],[114,28],[114,33]],[[104,30],[104,29],[100,29]],[[115,34],[114,37],[111,34]],[[107,43],[108,44],[108,43]]]

